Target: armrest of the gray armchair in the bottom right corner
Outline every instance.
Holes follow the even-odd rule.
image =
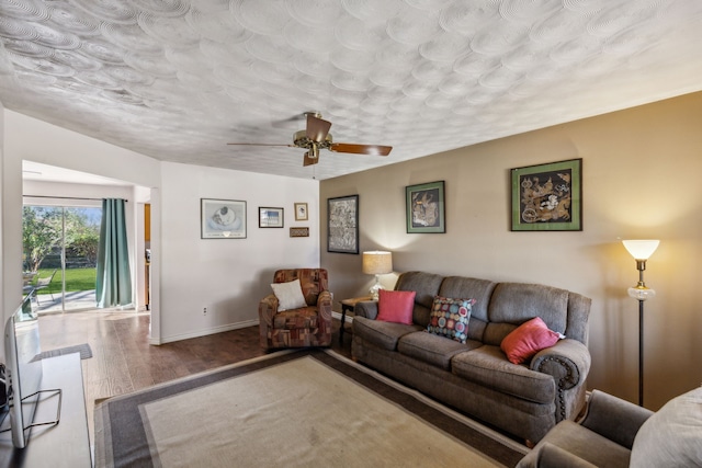
[[[653,411],[646,408],[600,390],[592,390],[581,424],[631,450],[636,433],[652,414]]]

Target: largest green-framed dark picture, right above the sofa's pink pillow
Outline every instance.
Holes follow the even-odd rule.
[[[582,230],[582,159],[511,170],[513,231]]]

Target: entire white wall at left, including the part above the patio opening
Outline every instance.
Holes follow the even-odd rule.
[[[254,324],[258,301],[269,294],[276,269],[319,265],[318,181],[165,163],[12,111],[5,110],[2,116],[2,288],[16,290],[14,300],[3,295],[3,304],[21,300],[22,160],[124,181],[132,186],[128,198],[137,202],[150,193],[154,344]],[[87,193],[76,186],[57,190],[58,195]],[[246,201],[247,239],[201,239],[203,197]],[[294,220],[295,202],[308,204],[308,221]],[[285,227],[258,228],[259,206],[284,208]],[[131,209],[136,225],[140,212]],[[292,226],[309,227],[310,237],[290,238]],[[136,243],[135,258],[140,259],[138,249]],[[10,271],[18,273],[9,276]],[[16,305],[5,307],[3,317]]]

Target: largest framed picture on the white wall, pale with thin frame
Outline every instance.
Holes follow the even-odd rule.
[[[201,198],[200,231],[202,239],[245,239],[246,202]]]

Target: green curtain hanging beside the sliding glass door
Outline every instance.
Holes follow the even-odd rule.
[[[124,199],[102,201],[100,249],[95,298],[99,308],[132,304],[132,273],[127,249],[127,229],[124,219]]]

